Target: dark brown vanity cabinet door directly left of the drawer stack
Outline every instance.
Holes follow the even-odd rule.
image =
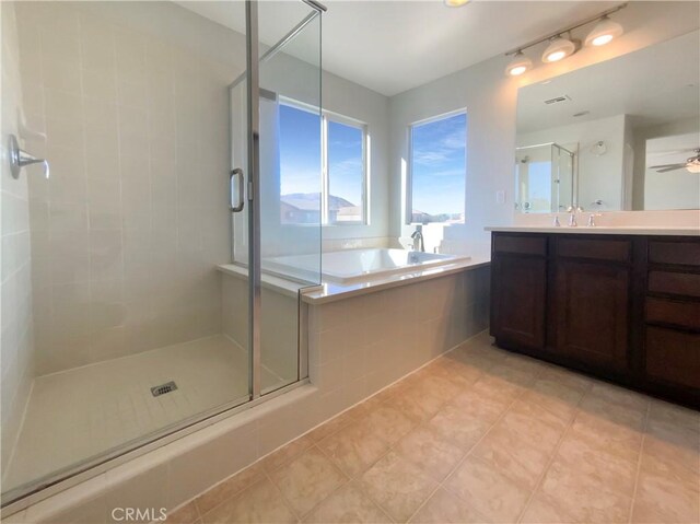
[[[626,368],[629,287],[626,267],[559,259],[557,351],[584,363]]]

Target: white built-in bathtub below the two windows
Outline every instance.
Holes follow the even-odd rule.
[[[324,282],[350,284],[467,259],[469,259],[468,256],[439,255],[406,249],[345,249],[324,253],[320,270]],[[292,255],[265,258],[262,270],[302,280],[317,281],[318,256]]]

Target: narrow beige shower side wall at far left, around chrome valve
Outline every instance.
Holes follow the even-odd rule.
[[[27,173],[10,174],[8,136],[20,136],[22,86],[18,24],[14,4],[0,3],[2,78],[0,83],[0,447],[1,468],[7,471],[34,376],[34,336],[30,251]]]

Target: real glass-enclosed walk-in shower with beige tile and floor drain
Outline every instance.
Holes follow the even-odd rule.
[[[320,265],[276,130],[319,112],[322,10],[1,3],[3,505],[305,376],[319,270],[280,294],[264,260]],[[12,176],[11,135],[48,178]]]

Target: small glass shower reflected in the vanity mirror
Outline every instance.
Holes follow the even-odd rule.
[[[556,213],[574,202],[575,154],[558,143],[515,149],[515,208]]]

